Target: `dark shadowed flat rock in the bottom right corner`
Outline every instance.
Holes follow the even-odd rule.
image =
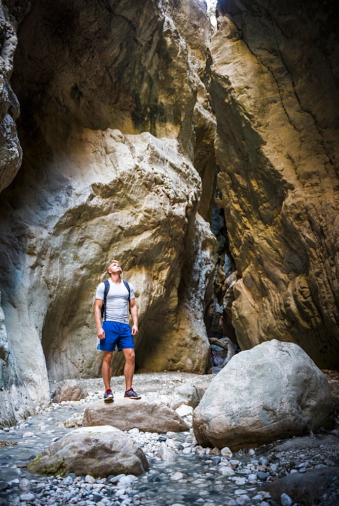
[[[337,506],[339,504],[339,467],[309,469],[293,473],[264,487],[272,498],[287,494],[293,502],[305,506]]]

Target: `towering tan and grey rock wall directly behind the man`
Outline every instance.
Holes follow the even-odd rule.
[[[49,401],[48,374],[99,374],[94,290],[112,258],[136,288],[138,366],[209,367],[216,242],[198,209],[211,214],[213,178],[197,170],[214,167],[210,24],[203,2],[184,5],[36,0],[21,24],[24,155],[0,199],[0,287],[33,405]],[[122,354],[112,365],[122,373]]]

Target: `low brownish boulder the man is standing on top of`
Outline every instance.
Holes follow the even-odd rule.
[[[137,428],[145,432],[180,432],[189,426],[173,409],[143,399],[102,401],[91,404],[84,411],[84,426],[114,425],[122,431]]]

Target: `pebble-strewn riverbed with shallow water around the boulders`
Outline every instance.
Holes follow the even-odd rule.
[[[162,402],[180,384],[206,388],[212,378],[213,375],[182,372],[143,373],[135,375],[134,385],[144,398]],[[140,444],[150,461],[150,469],[139,477],[98,479],[90,475],[45,477],[31,473],[27,469],[29,461],[51,442],[81,425],[84,408],[102,398],[101,379],[84,379],[80,383],[90,393],[87,398],[52,403],[22,424],[0,432],[0,504],[274,506],[277,503],[263,490],[270,481],[311,468],[339,465],[339,439],[326,434],[232,454],[227,449],[220,452],[217,448],[202,448],[192,429],[166,434],[132,429],[129,436]],[[51,392],[56,386],[57,382],[51,383]],[[123,396],[123,376],[112,378],[112,390],[116,398]],[[190,425],[190,417],[185,419]],[[157,456],[161,445],[176,452],[175,461],[162,461]],[[293,504],[288,495],[283,500],[287,506]]]

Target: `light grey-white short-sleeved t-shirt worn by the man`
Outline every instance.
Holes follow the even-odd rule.
[[[128,289],[123,281],[119,284],[114,283],[111,279],[108,281],[109,290],[106,298],[106,320],[128,324]],[[131,283],[128,283],[128,285],[131,290],[130,299],[134,299],[134,287]],[[105,284],[102,282],[96,289],[95,298],[103,301],[104,290]]]

